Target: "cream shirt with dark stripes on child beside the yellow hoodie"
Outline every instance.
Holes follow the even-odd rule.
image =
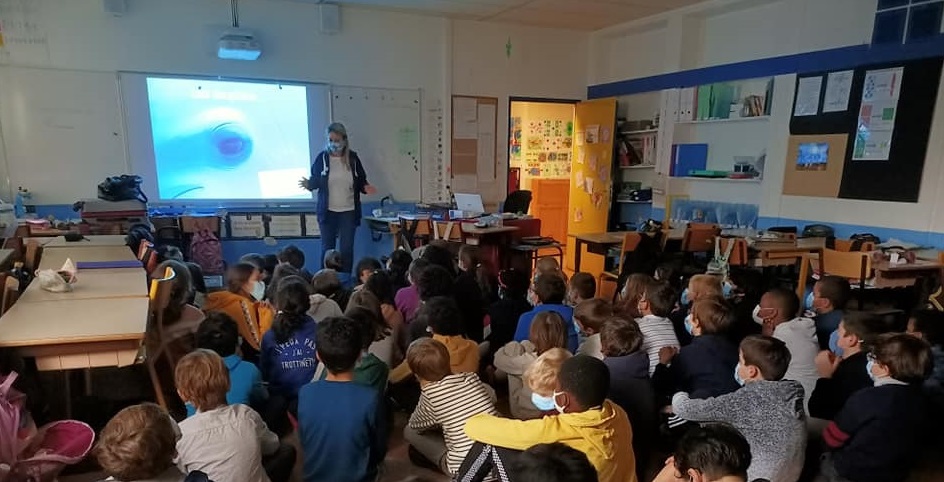
[[[410,416],[410,428],[417,431],[442,428],[446,463],[455,474],[473,443],[465,434],[465,422],[480,413],[498,415],[495,392],[478,375],[457,373],[423,387],[420,402]]]

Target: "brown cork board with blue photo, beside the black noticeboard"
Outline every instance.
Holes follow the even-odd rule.
[[[848,134],[790,136],[783,193],[838,197],[848,142]]]

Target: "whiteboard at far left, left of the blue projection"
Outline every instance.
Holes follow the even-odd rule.
[[[128,173],[114,72],[0,67],[0,86],[4,200],[23,186],[36,204],[72,204]]]

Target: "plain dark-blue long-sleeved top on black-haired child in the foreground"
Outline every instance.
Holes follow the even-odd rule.
[[[373,482],[386,452],[377,391],[353,382],[319,381],[298,393],[304,480]]]

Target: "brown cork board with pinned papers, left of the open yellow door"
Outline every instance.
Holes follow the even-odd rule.
[[[452,175],[494,180],[497,133],[497,97],[452,96]]]

